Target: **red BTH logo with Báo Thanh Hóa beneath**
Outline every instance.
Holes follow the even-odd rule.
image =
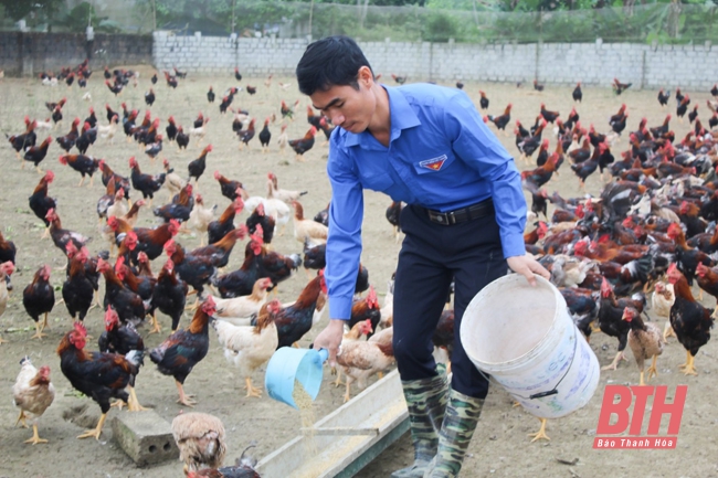
[[[666,403],[668,387],[659,386],[625,386],[606,385],[603,392],[603,404],[599,415],[599,426],[595,429],[593,448],[675,448],[678,443],[678,431],[683,418],[683,407],[686,404],[687,385],[676,386],[673,403]],[[642,433],[648,397],[653,395],[648,428]],[[634,402],[633,416],[629,407]],[[616,401],[617,399],[617,401]],[[667,431],[661,435],[661,418],[669,415]],[[615,421],[611,423],[611,418]],[[629,431],[629,436],[620,435]]]

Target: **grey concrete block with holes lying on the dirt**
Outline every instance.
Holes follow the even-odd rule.
[[[169,422],[154,411],[119,414],[113,419],[113,436],[138,466],[179,459]]]

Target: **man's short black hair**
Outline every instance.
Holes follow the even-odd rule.
[[[299,91],[307,96],[332,86],[349,85],[359,89],[359,68],[371,65],[361,49],[349,36],[337,35],[317,40],[307,46],[297,65]],[[373,71],[372,71],[373,74]]]

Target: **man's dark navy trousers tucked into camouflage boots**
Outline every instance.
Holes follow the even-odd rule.
[[[454,350],[452,389],[484,399],[487,380],[466,355],[460,339],[468,302],[484,286],[507,272],[494,214],[453,225],[429,220],[410,205],[401,213],[405,237],[394,283],[393,348],[401,380],[436,375],[432,334],[454,283]]]

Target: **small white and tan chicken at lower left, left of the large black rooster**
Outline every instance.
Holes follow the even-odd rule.
[[[29,357],[22,359],[20,365],[20,373],[12,386],[12,403],[20,408],[15,426],[22,422],[22,426],[27,428],[27,421],[30,419],[32,438],[27,439],[25,443],[33,445],[47,443],[38,435],[38,421],[55,400],[55,387],[50,382],[50,367],[43,365],[38,370]]]

